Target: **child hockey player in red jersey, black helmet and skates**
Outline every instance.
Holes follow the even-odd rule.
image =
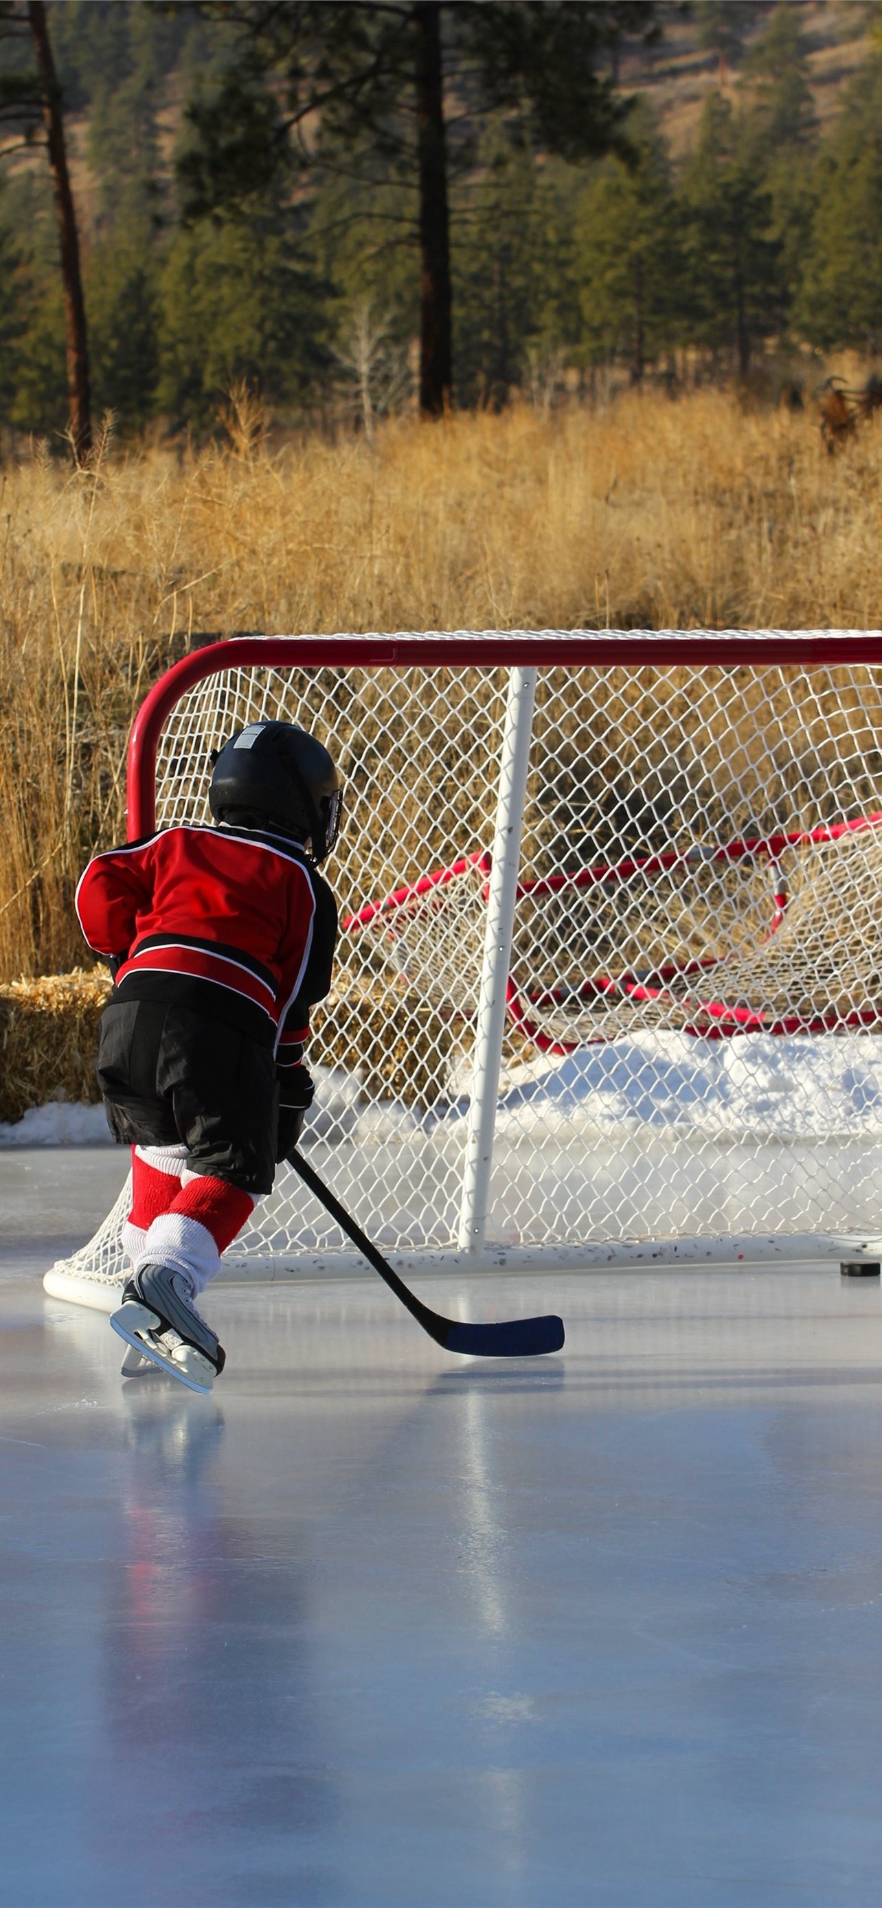
[[[313,1099],[309,1007],[330,986],[342,784],[304,729],[256,721],[220,752],[214,826],[179,824],[90,861],[76,912],[111,962],[97,1080],[132,1147],[132,1275],[113,1328],[122,1370],[162,1366],[193,1391],[223,1370],[195,1299],[271,1192]]]

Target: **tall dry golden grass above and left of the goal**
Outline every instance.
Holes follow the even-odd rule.
[[[124,740],[193,630],[874,626],[882,437],[624,397],[388,424],[372,445],[34,458],[0,496],[0,973],[82,943],[73,883],[124,828]]]

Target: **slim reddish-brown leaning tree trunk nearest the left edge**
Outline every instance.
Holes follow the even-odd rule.
[[[86,340],[86,307],[80,280],[80,240],[76,237],[76,214],[71,193],[65,153],[65,122],[61,116],[61,88],[57,84],[55,61],[52,57],[50,31],[46,25],[44,0],[29,0],[31,36],[40,69],[42,118],[50,147],[52,191],[55,198],[55,218],[61,246],[61,280],[65,286],[65,330],[67,330],[67,404],[71,443],[76,456],[92,448],[92,406],[90,406],[90,357]]]

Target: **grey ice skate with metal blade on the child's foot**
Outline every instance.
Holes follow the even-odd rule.
[[[132,1355],[157,1364],[191,1391],[210,1391],[223,1370],[225,1353],[218,1334],[197,1313],[191,1282],[174,1265],[143,1265],[134,1273],[111,1324]],[[126,1376],[136,1370],[139,1366],[126,1353]]]

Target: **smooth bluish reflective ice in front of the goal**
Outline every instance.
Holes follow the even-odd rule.
[[[878,1902],[878,1280],[218,1288],[199,1399],[40,1290],[124,1164],[0,1152],[2,1908]]]

